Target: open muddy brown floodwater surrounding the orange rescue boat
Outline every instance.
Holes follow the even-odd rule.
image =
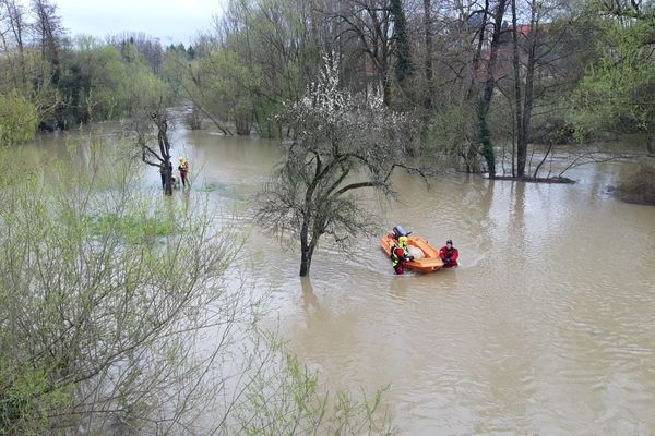
[[[402,203],[381,228],[452,239],[460,268],[396,277],[365,238],[347,254],[321,246],[300,280],[297,246],[247,218],[276,145],[210,132],[178,143],[194,189],[250,234],[270,327],[332,390],[390,385],[402,435],[655,434],[655,207],[605,193],[624,165],[577,168],[574,185],[450,174],[428,189],[398,174]]]

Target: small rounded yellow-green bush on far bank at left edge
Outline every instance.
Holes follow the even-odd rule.
[[[32,140],[37,117],[34,105],[15,90],[0,94],[0,146]]]

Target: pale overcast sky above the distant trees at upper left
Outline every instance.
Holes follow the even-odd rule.
[[[28,0],[24,0],[28,2]],[[55,0],[71,36],[144,32],[162,44],[189,41],[212,25],[224,0]]]

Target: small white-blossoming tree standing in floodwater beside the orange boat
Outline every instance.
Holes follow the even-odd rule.
[[[300,238],[300,276],[308,276],[323,234],[342,242],[376,229],[355,191],[392,195],[391,174],[405,164],[416,136],[406,114],[389,110],[380,96],[366,98],[340,87],[338,64],[325,58],[318,83],[282,116],[293,132],[286,158],[264,187],[258,218],[277,234]],[[422,173],[421,173],[422,174]]]

